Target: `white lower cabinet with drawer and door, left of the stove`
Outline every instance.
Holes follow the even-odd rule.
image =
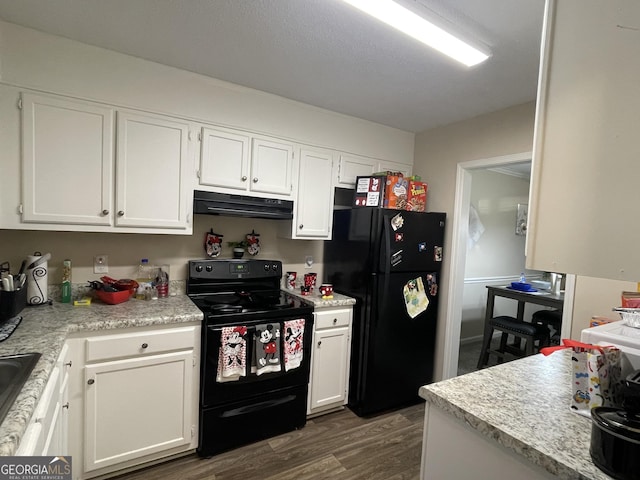
[[[72,395],[76,479],[197,447],[200,326],[132,328],[74,339],[83,373]]]

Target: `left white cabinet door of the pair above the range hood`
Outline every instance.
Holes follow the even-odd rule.
[[[249,137],[203,128],[200,185],[245,191],[248,180]]]

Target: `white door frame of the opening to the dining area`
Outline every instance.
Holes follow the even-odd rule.
[[[467,260],[467,237],[469,230],[469,206],[471,204],[471,170],[497,168],[514,163],[532,160],[532,152],[515,153],[499,157],[481,158],[460,162],[456,173],[455,203],[451,242],[451,264],[449,266],[449,286],[447,292],[447,310],[445,317],[445,344],[442,379],[458,375],[458,357],[460,354],[460,329],[462,325],[462,301],[464,297],[464,272]],[[529,185],[531,194],[531,184]],[[526,255],[526,247],[525,247]],[[567,275],[562,315],[562,338],[569,338],[571,318],[573,317],[573,296],[575,276]]]

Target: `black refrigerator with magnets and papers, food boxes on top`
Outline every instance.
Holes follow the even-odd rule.
[[[420,401],[433,381],[444,213],[335,210],[324,277],[356,298],[349,408],[368,416]]]

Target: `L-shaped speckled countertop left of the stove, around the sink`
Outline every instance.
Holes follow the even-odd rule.
[[[23,320],[18,328],[0,343],[0,356],[31,352],[42,356],[0,424],[0,455],[15,453],[69,334],[197,322],[203,318],[186,295],[149,301],[132,299],[119,305],[99,300],[83,307],[54,303],[27,307],[20,315]]]

